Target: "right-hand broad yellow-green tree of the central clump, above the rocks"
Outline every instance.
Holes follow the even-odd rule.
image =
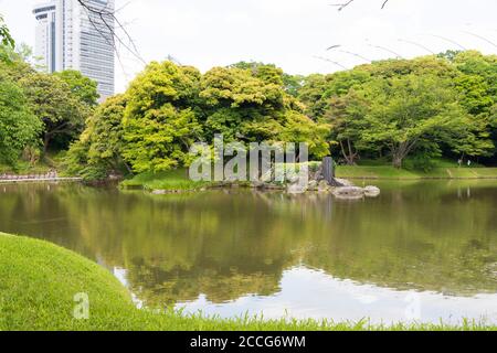
[[[215,67],[202,77],[201,88],[208,140],[222,133],[225,141],[307,142],[313,156],[328,153],[327,127],[304,115],[281,68],[260,63]]]

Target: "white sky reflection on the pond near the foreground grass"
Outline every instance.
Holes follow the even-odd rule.
[[[192,302],[178,303],[186,312],[202,311],[223,318],[261,314],[276,319],[288,315],[297,319],[332,319],[359,321],[370,318],[372,323],[457,322],[461,318],[497,323],[497,295],[470,298],[446,297],[434,292],[396,291],[372,285],[337,280],[321,271],[298,267],[284,272],[281,292],[271,297],[245,296],[237,300],[214,304],[199,296]],[[416,317],[419,303],[419,318]],[[410,320],[411,319],[411,320]]]

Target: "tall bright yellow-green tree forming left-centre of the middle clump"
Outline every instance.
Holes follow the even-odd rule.
[[[165,171],[189,163],[202,127],[194,110],[200,72],[154,62],[127,92],[123,156],[134,171]]]

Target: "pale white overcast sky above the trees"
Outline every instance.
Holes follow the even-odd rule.
[[[0,0],[14,39],[31,46],[38,2]],[[117,17],[144,60],[171,55],[202,72],[244,60],[274,63],[290,74],[329,73],[394,56],[389,51],[413,57],[458,45],[497,53],[496,0],[390,0],[384,10],[382,0],[355,0],[340,12],[330,6],[337,2],[345,0],[116,0],[116,8],[124,7]],[[363,58],[326,50],[337,44]],[[144,66],[126,51],[120,56],[118,92]]]

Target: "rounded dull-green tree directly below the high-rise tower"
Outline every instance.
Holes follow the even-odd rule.
[[[20,79],[31,110],[43,121],[43,150],[55,141],[68,147],[84,128],[88,107],[75,96],[62,78],[43,73],[31,73]]]

